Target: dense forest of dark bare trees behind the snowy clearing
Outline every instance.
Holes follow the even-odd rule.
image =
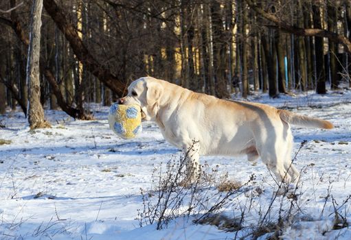
[[[39,1],[40,2],[40,1]],[[0,112],[31,98],[34,3],[0,3]],[[145,75],[243,99],[350,87],[351,1],[43,0],[40,104],[91,119]],[[32,34],[34,36],[34,34]],[[34,50],[34,49],[33,49]],[[35,64],[35,62],[34,62]]]

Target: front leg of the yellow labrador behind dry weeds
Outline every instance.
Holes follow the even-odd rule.
[[[185,178],[181,181],[181,185],[188,186],[199,179],[201,173],[199,142],[194,141],[192,145],[183,147],[185,161]]]

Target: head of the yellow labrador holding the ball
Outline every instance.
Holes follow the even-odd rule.
[[[128,86],[128,95],[120,99],[120,104],[138,104],[143,120],[154,120],[159,110],[159,100],[163,92],[159,80],[141,77]]]

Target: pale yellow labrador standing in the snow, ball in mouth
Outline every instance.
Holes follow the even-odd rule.
[[[191,147],[187,180],[194,180],[199,172],[200,155],[246,154],[251,162],[260,156],[279,180],[295,181],[299,172],[291,165],[289,124],[333,128],[329,121],[264,104],[194,93],[154,77],[132,82],[120,104],[139,104],[143,118],[155,121],[168,142],[183,152]]]

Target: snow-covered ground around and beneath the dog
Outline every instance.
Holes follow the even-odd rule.
[[[95,121],[47,110],[52,128],[35,131],[23,113],[7,112],[0,116],[0,139],[8,141],[0,145],[0,239],[267,239],[274,230],[264,229],[276,225],[279,215],[290,219],[280,224],[284,239],[351,239],[351,92],[251,101],[320,117],[335,129],[293,127],[294,154],[307,142],[295,159],[302,180],[297,189],[291,186],[292,197],[277,193],[260,160],[253,166],[245,157],[201,158],[206,171],[218,169],[218,179],[228,173],[229,180],[245,183],[255,175],[220,209],[241,220],[234,231],[194,224],[196,215],[177,217],[162,230],[139,227],[138,209],[149,201],[140,189],[155,193],[152,173],[181,158],[155,124],[144,122],[139,137],[126,141],[109,129],[107,107],[91,107]],[[216,180],[211,184],[199,195],[218,195]],[[157,193],[149,197],[157,201]]]

